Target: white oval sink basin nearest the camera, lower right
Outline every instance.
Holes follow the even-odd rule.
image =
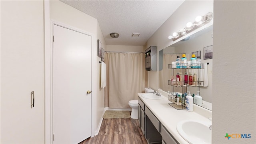
[[[196,120],[183,120],[179,122],[176,129],[180,136],[190,144],[211,144],[212,143],[212,130],[209,126],[212,122],[196,121]]]

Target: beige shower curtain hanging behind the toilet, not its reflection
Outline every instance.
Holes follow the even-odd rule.
[[[106,88],[104,107],[130,108],[145,87],[145,53],[105,53]]]

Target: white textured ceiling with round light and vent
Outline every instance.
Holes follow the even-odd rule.
[[[184,0],[61,0],[96,18],[108,45],[143,46]],[[119,38],[111,38],[117,32]],[[132,37],[139,33],[139,37]]]

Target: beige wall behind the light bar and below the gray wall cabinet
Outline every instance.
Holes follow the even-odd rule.
[[[181,6],[164,22],[164,24],[158,28],[158,30],[148,39],[148,46],[157,46],[158,51],[162,50],[179,40],[184,38],[181,37],[176,41],[168,39],[169,35],[172,35],[173,32],[177,32],[180,28],[186,27],[187,22],[194,22],[194,19],[198,15],[204,15],[208,12],[213,12],[213,1],[195,1],[195,0],[186,0],[181,4]],[[202,28],[198,28],[194,32],[191,32],[187,36],[202,30],[203,28],[213,24],[213,20],[206,24]],[[158,63],[158,62],[157,62]],[[159,87],[158,84],[158,71],[148,72],[148,83],[149,87],[157,90]]]

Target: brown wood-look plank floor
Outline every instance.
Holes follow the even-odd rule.
[[[147,144],[139,126],[132,118],[103,119],[98,135],[79,144]]]

